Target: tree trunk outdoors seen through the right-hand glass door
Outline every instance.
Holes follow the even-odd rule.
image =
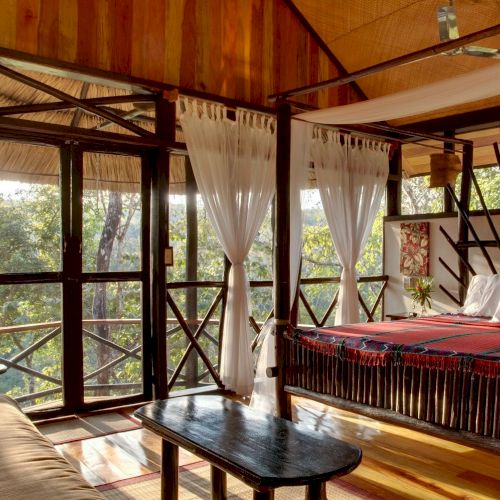
[[[113,244],[118,233],[120,226],[120,219],[122,216],[122,195],[121,193],[110,193],[108,209],[104,226],[102,228],[101,238],[99,240],[99,247],[97,248],[96,255],[96,271],[106,272],[109,271],[109,264],[111,260],[111,253],[113,251]],[[96,283],[94,291],[94,302],[92,306],[92,315],[96,320],[106,319],[107,314],[107,298],[106,298],[106,283]],[[95,327],[97,335],[103,339],[110,339],[110,331],[107,325],[97,324]],[[109,347],[100,344],[97,349],[97,366],[100,368],[105,366],[111,361],[111,352]],[[98,384],[109,383],[109,370],[105,370],[97,375]],[[109,391],[100,391],[101,394],[109,394]]]

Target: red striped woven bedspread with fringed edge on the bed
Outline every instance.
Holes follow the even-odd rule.
[[[383,365],[464,369],[500,377],[500,323],[486,318],[443,314],[400,321],[295,329],[288,337],[315,351]]]

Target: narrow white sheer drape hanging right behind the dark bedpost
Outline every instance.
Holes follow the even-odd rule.
[[[302,255],[302,205],[300,191],[307,181],[313,125],[292,120],[290,147],[290,303],[297,293]],[[266,375],[266,368],[277,366],[274,321],[269,320],[260,334],[255,385],[250,406],[273,415],[278,414],[276,378]]]

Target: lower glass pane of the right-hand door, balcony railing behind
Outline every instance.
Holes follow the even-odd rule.
[[[141,284],[83,286],[85,400],[142,392]]]

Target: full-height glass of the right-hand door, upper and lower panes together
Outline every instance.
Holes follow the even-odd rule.
[[[145,392],[149,187],[140,156],[84,151],[82,160],[83,399],[116,402]]]

